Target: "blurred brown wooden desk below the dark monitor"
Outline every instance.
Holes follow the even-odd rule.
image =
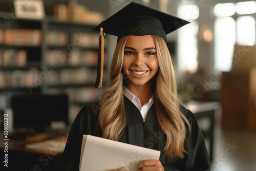
[[[27,138],[26,140],[12,140],[8,141],[8,168],[4,167],[4,163],[2,161],[1,167],[4,168],[2,170],[47,170],[53,171],[57,170],[58,165],[61,161],[61,152],[57,152],[54,148],[50,151],[43,151],[37,149],[29,149],[26,148],[27,144],[31,144],[38,140],[38,137],[42,137],[43,140],[48,139],[57,139],[59,141],[65,140],[63,137],[67,136],[67,130],[61,132],[51,132],[44,133],[41,135],[36,135],[35,140],[33,137]],[[3,132],[1,132],[1,138],[3,138]],[[41,141],[42,139],[40,139]],[[3,143],[0,144],[1,150],[1,158],[4,158],[4,148],[5,145]],[[57,146],[56,146],[57,148]]]

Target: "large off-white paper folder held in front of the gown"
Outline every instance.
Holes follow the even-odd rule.
[[[83,135],[81,171],[112,171],[123,168],[139,171],[138,165],[144,160],[159,160],[160,151],[126,144],[91,135]]]

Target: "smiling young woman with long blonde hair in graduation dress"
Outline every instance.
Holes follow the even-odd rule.
[[[77,115],[61,170],[79,169],[84,134],[161,151],[159,160],[141,162],[140,170],[208,170],[209,158],[197,120],[178,99],[164,24],[152,12],[145,12],[147,7],[132,3],[129,8],[134,7],[144,10],[143,15],[125,19],[129,32],[122,30],[118,35],[109,87],[101,99]],[[121,13],[126,11],[127,7]],[[103,24],[105,28],[108,22]]]

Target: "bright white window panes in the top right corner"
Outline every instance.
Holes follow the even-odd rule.
[[[255,13],[254,1],[215,6],[215,70],[231,70],[234,44],[255,45]]]

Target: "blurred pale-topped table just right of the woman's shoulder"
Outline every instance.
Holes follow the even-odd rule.
[[[212,160],[214,155],[216,110],[220,108],[220,104],[219,102],[189,101],[185,106],[196,116],[204,138],[209,139],[208,152],[210,160]]]

